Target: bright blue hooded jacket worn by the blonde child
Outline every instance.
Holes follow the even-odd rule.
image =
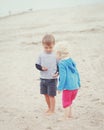
[[[80,77],[75,62],[69,58],[59,61],[59,85],[58,90],[75,90],[80,85]]]

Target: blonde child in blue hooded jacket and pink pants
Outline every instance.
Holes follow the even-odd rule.
[[[72,117],[71,106],[80,87],[80,77],[75,62],[69,55],[68,44],[60,43],[56,47],[59,61],[58,93],[62,93],[62,104],[65,109],[65,119]]]

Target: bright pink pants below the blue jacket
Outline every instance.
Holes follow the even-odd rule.
[[[78,89],[76,90],[64,90],[62,94],[62,104],[63,108],[71,106],[73,100],[75,99],[78,93]]]

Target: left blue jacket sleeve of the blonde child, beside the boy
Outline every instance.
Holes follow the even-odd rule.
[[[58,91],[62,91],[65,85],[65,80],[66,80],[66,71],[65,68],[62,64],[59,64],[59,85],[58,85]]]

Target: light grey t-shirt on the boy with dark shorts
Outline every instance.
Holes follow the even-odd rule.
[[[46,52],[41,53],[40,56],[38,57],[36,64],[39,64],[41,66],[48,68],[47,71],[40,71],[40,75],[41,75],[40,78],[54,79],[53,75],[57,71],[57,59],[56,59],[54,52],[52,52],[52,53],[46,53]]]

